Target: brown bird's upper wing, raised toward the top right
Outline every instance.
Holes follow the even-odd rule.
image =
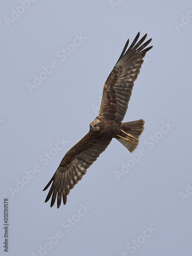
[[[152,39],[142,44],[147,34],[137,42],[139,35],[140,33],[126,51],[129,44],[129,39],[127,40],[114,69],[106,79],[98,116],[108,117],[119,123],[123,120],[143,58],[146,52],[153,47],[145,48]]]

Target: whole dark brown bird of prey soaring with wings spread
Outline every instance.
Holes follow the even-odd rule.
[[[146,48],[151,39],[144,42],[147,34],[139,41],[137,34],[131,46],[127,40],[123,51],[104,84],[103,95],[98,116],[90,123],[89,132],[77,142],[63,157],[55,174],[44,188],[52,183],[47,202],[51,196],[51,207],[57,199],[57,208],[67,202],[70,190],[87,173],[87,169],[110,144],[112,138],[120,141],[130,152],[139,143],[139,137],[144,130],[142,119],[122,122],[132,94],[134,81],[140,72],[143,58],[153,46]],[[144,42],[144,44],[143,44]],[[127,49],[127,50],[126,50]]]

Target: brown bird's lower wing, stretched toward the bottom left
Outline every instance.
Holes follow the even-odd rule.
[[[45,202],[52,196],[51,207],[56,198],[57,208],[61,204],[61,198],[63,204],[66,204],[70,190],[87,173],[87,169],[110,144],[111,140],[111,138],[98,138],[89,132],[77,142],[63,157],[55,174],[44,188],[46,190],[53,182]]]

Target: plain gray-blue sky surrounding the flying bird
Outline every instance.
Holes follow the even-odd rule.
[[[191,2],[22,2],[2,1],[0,11],[1,255],[7,197],[11,256],[191,255]],[[131,154],[114,139],[67,204],[50,208],[42,189],[88,132],[104,82],[138,31],[154,46],[124,118],[145,120],[139,146]],[[66,58],[62,48],[71,50]],[[53,61],[56,68],[30,92],[27,84]],[[39,172],[24,178],[34,165]],[[16,188],[22,179],[27,184]],[[56,233],[62,238],[53,244],[48,237]]]

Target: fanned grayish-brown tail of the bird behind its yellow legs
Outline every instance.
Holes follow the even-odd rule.
[[[143,119],[122,123],[122,130],[134,137],[133,142],[129,142],[118,137],[116,137],[116,139],[121,142],[131,153],[136,149],[139,144],[139,137],[144,130],[144,123],[145,122],[143,121]],[[121,133],[120,135],[124,138],[129,138],[124,133]]]

